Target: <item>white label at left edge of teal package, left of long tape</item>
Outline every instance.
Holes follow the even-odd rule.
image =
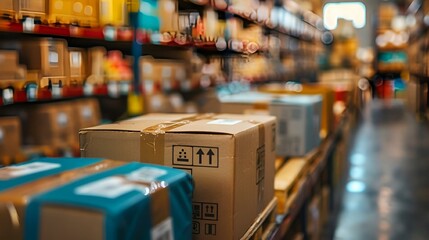
[[[11,166],[0,169],[0,179],[2,178],[16,178],[33,173],[43,172],[54,168],[59,168],[61,165],[58,163],[47,162],[32,162],[20,166]]]

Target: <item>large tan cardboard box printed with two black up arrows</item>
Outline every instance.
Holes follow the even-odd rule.
[[[274,196],[275,118],[151,114],[80,131],[84,157],[172,166],[192,174],[194,239],[239,239]]]

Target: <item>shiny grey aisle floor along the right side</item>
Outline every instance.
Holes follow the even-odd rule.
[[[374,101],[350,150],[334,239],[427,239],[427,123],[418,123],[402,102]]]

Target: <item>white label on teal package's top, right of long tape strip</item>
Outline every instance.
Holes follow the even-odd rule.
[[[129,184],[121,177],[108,177],[76,188],[78,195],[87,195],[104,198],[117,198],[132,190],[138,190],[138,186]]]

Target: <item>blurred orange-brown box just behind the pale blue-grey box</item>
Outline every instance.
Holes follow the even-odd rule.
[[[322,112],[320,119],[320,137],[324,138],[333,130],[334,126],[334,91],[323,85],[317,84],[289,84],[289,85],[267,85],[259,91],[276,94],[304,94],[321,95]]]

